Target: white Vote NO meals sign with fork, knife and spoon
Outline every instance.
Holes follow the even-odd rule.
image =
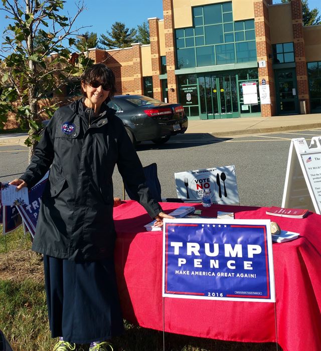
[[[215,204],[240,204],[234,165],[175,173],[175,182],[181,199],[199,201],[209,189]]]

